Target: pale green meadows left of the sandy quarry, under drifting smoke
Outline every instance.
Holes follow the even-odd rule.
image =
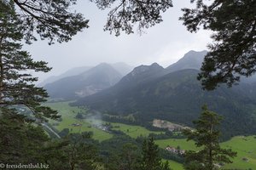
[[[69,102],[58,102],[58,103],[47,103],[49,107],[52,109],[55,109],[59,111],[61,114],[62,121],[61,122],[55,122],[50,120],[49,122],[53,125],[54,127],[61,131],[64,128],[69,128],[69,131],[72,133],[80,133],[84,131],[91,131],[94,133],[93,138],[98,139],[100,141],[105,140],[105,139],[110,139],[113,137],[112,134],[107,133],[105,131],[102,131],[96,127],[91,127],[93,123],[96,124],[102,124],[105,122],[102,122],[100,120],[95,120],[95,119],[86,119],[86,120],[79,120],[76,119],[75,116],[79,112],[84,112],[85,110],[79,109],[79,107],[72,107],[68,105]],[[57,124],[56,124],[57,123]],[[73,127],[73,123],[79,123],[81,124],[80,127]],[[149,131],[145,127],[140,127],[140,126],[134,126],[134,125],[127,125],[123,123],[111,123],[113,125],[114,130],[120,130],[127,135],[131,136],[131,138],[137,138],[138,136],[148,136],[149,133],[162,133],[162,132],[154,132],[154,131]]]

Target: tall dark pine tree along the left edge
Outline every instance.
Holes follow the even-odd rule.
[[[44,162],[42,154],[49,138],[34,120],[40,123],[46,117],[59,117],[56,111],[41,106],[47,94],[33,84],[37,78],[26,73],[50,68],[21,49],[23,31],[14,4],[0,6],[0,160],[4,163]],[[33,116],[20,114],[17,108],[21,106]]]

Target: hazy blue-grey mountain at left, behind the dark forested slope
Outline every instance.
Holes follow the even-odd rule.
[[[121,77],[111,65],[102,63],[79,75],[46,84],[44,88],[51,98],[77,99],[109,88],[119,82]]]

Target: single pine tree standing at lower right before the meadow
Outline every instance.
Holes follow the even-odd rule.
[[[219,145],[220,131],[218,125],[221,117],[207,106],[202,107],[201,116],[194,122],[195,130],[186,129],[184,134],[188,140],[194,140],[199,151],[189,150],[185,153],[185,169],[215,170],[219,163],[231,163],[230,158],[236,156],[232,150],[222,149]]]

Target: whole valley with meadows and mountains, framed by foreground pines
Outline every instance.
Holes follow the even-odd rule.
[[[61,76],[44,86],[50,96],[44,105],[61,115],[57,121],[49,120],[48,126],[61,138],[90,133],[102,155],[119,153],[127,143],[140,148],[144,139],[152,137],[161,159],[170,161],[173,170],[183,170],[185,150],[200,148],[182,131],[193,129],[201,107],[208,105],[222,117],[220,145],[237,152],[233,163],[218,166],[256,169],[255,78],[232,88],[203,90],[196,77],[205,54],[189,51],[166,68],[153,63],[129,71],[131,67],[124,64],[102,63],[77,75]]]

